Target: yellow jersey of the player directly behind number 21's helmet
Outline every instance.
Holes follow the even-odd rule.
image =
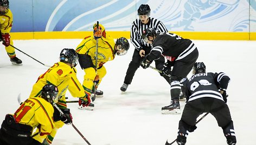
[[[40,96],[41,90],[47,83],[56,85],[59,89],[59,102],[57,105],[60,108],[67,108],[66,105],[66,91],[69,90],[73,97],[84,97],[85,90],[76,77],[76,69],[69,67],[63,62],[55,63],[49,68],[46,73],[39,76],[29,97]]]

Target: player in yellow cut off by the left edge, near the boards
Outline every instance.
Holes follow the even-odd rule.
[[[10,31],[12,27],[12,12],[9,9],[8,0],[0,0],[0,41],[3,41],[5,50],[12,64],[21,64],[22,61],[16,57],[15,49],[10,46],[13,45]]]

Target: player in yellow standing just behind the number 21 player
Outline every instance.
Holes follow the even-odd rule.
[[[81,83],[76,77],[75,66],[78,63],[78,55],[74,49],[63,49],[60,53],[60,62],[55,63],[51,68],[49,68],[44,74],[40,75],[36,83],[33,85],[33,90],[29,97],[36,98],[40,94],[40,88],[47,84],[52,83],[56,85],[59,89],[59,102],[57,106],[62,109],[62,111],[67,111],[69,114],[69,109],[67,109],[66,104],[66,91],[69,90],[73,97],[79,97],[82,104],[87,107],[88,110],[93,110],[94,104],[90,104],[91,100],[85,95],[85,90],[82,88]],[[56,132],[65,123],[60,119],[55,120],[55,128],[52,133],[46,137],[44,142],[51,144]]]

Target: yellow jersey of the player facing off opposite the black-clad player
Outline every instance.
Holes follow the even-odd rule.
[[[98,63],[97,68],[106,63],[112,61],[115,57],[114,39],[108,35],[106,38],[101,37],[98,39]],[[93,65],[95,66],[97,41],[93,36],[85,37],[82,42],[76,47],[78,54],[86,54],[91,56]]]

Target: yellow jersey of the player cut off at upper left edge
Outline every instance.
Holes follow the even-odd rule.
[[[9,9],[7,14],[0,15],[0,30],[3,34],[9,33],[12,27],[12,12]]]

